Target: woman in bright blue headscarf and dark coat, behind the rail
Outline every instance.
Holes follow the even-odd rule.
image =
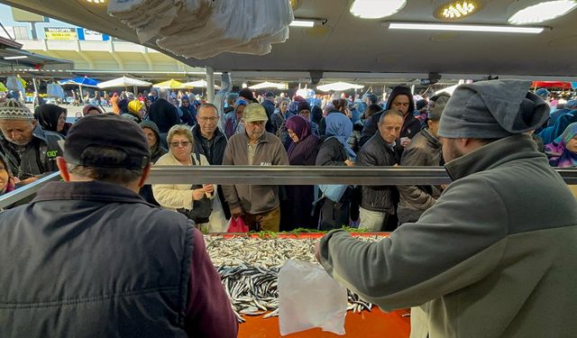
[[[354,166],[356,154],[347,142],[353,132],[353,122],[345,114],[329,114],[325,122],[326,135],[321,138],[322,145],[316,155],[316,165]],[[350,187],[344,190],[338,201],[333,201],[326,196],[318,201],[317,203],[320,204],[319,230],[349,225],[350,202]]]

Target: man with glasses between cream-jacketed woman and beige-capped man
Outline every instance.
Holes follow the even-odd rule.
[[[195,139],[195,152],[203,154],[211,166],[223,164],[224,150],[226,149],[226,135],[218,129],[218,109],[213,104],[204,104],[198,108],[197,125],[192,127],[192,137]],[[223,205],[224,216],[231,217],[228,204],[224,198],[222,185],[218,185],[216,192]]]

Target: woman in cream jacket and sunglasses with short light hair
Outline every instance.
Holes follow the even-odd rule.
[[[155,163],[158,166],[191,166],[198,165],[197,154],[193,154],[194,139],[187,125],[174,125],[167,135],[169,152]],[[200,165],[208,166],[206,157],[198,154]],[[224,218],[223,207],[216,194],[216,186],[204,184],[202,187],[192,189],[190,184],[155,184],[152,185],[154,198],[165,209],[177,210],[180,208],[192,210],[195,200],[204,196],[213,200],[213,211],[208,223],[197,224],[199,229],[209,233],[225,233],[227,222]]]

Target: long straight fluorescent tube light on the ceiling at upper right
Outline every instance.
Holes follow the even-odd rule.
[[[499,26],[456,23],[389,23],[391,30],[451,31],[451,32],[519,32],[538,34],[545,27]]]

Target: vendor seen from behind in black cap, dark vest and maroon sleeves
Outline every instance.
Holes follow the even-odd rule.
[[[0,336],[236,337],[202,234],[137,195],[151,168],[141,128],[83,117],[64,149],[64,182],[0,215]]]

